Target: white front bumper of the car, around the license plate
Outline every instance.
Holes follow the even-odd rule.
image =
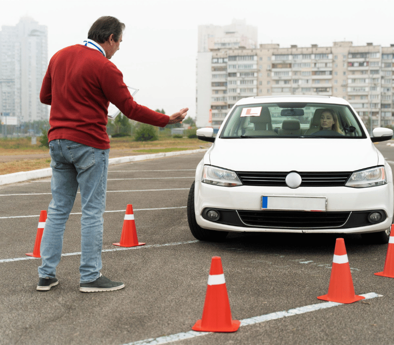
[[[326,212],[261,210],[262,195],[327,197]],[[196,181],[197,224],[205,229],[232,232],[369,233],[388,229],[393,221],[393,185],[370,188],[349,187],[219,187]],[[210,221],[208,209],[221,217]],[[368,221],[378,211],[379,223]]]

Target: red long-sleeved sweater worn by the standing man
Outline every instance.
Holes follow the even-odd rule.
[[[48,140],[68,139],[109,148],[109,102],[128,118],[164,127],[169,116],[134,102],[122,72],[98,50],[76,44],[58,51],[41,86],[41,103],[51,105]]]

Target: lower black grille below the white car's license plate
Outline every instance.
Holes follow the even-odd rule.
[[[248,226],[287,229],[339,228],[346,223],[350,214],[351,212],[238,210],[241,221]]]

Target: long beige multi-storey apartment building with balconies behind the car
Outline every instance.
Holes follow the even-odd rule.
[[[197,85],[197,95],[210,95],[210,104],[206,96],[197,107],[198,127],[218,129],[240,98],[275,95],[341,97],[353,105],[367,128],[394,126],[394,44],[353,46],[344,41],[331,47],[289,48],[261,44],[199,54],[205,54],[206,69],[197,68],[197,73],[203,73],[208,90],[198,92]]]

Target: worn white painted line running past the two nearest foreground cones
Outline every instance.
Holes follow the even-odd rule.
[[[363,294],[360,296],[365,297],[366,300],[371,299],[371,298],[375,298],[375,297],[382,297],[382,295],[378,295],[375,292],[369,292],[367,294]],[[260,315],[260,316],[255,316],[255,317],[251,317],[248,319],[240,320],[241,321],[240,327],[247,326],[247,325],[253,325],[256,323],[261,323],[261,322],[270,321],[270,320],[276,320],[276,319],[280,319],[283,317],[303,314],[303,313],[309,312],[309,311],[318,311],[318,310],[322,310],[322,309],[332,308],[332,307],[341,306],[341,305],[343,305],[343,304],[337,303],[337,302],[323,302],[323,303],[312,304],[309,306],[298,307],[295,309],[290,309],[288,311],[276,311],[276,312],[272,312],[270,314],[265,314],[265,315]],[[212,333],[213,332],[196,332],[196,331],[181,332],[181,333],[172,334],[169,336],[164,336],[164,337],[159,337],[159,338],[150,338],[150,339],[145,339],[145,340],[139,340],[136,342],[127,343],[127,344],[123,344],[123,345],[168,344],[168,343],[176,342],[178,340],[191,339],[191,338],[200,337],[200,336],[204,336],[204,335],[212,334]]]

